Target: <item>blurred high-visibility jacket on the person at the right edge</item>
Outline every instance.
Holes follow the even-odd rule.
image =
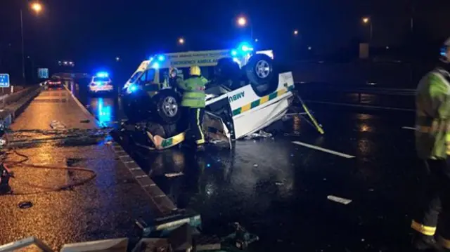
[[[416,93],[416,150],[420,159],[450,154],[450,74],[436,68],[423,77]]]

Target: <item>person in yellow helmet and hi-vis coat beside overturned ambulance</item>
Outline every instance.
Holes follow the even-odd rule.
[[[203,150],[205,135],[203,135],[203,114],[205,113],[205,84],[207,79],[201,76],[200,67],[193,65],[189,69],[188,79],[177,79],[179,88],[184,91],[181,106],[186,107],[188,131],[186,138],[195,140],[199,150]]]

